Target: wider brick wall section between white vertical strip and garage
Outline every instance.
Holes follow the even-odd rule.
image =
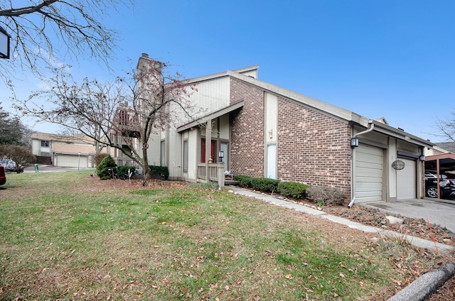
[[[279,180],[331,186],[350,193],[350,126],[279,98]]]

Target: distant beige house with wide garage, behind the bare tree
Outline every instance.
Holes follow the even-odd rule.
[[[32,133],[31,139],[32,153],[39,163],[72,168],[93,167],[95,143],[87,136]],[[106,148],[102,152],[106,153]]]

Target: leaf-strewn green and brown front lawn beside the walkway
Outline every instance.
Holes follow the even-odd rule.
[[[0,300],[381,300],[404,277],[363,235],[333,241],[328,221],[89,174],[8,175]]]

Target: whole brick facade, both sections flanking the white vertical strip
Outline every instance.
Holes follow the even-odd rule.
[[[245,104],[232,120],[231,171],[264,177],[264,91],[230,80],[231,102]],[[350,126],[289,99],[279,98],[277,178],[338,187],[350,193]]]

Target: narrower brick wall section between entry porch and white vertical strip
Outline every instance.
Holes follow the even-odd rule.
[[[230,102],[245,100],[232,120],[230,169],[237,175],[264,177],[264,92],[231,78],[230,97]]]

